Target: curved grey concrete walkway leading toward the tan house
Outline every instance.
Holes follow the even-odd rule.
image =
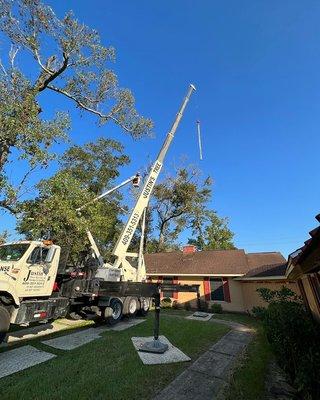
[[[154,400],[214,400],[228,384],[232,369],[250,340],[253,331],[236,322],[212,319],[232,328],[182,372]],[[211,323],[208,322],[208,323]]]

